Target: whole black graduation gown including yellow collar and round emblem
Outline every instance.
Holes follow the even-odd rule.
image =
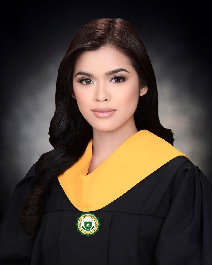
[[[212,187],[185,154],[141,130],[87,175],[91,157],[92,140],[52,183],[27,241],[19,219],[33,164],[3,219],[1,265],[212,264]]]

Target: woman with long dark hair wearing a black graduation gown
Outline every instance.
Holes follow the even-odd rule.
[[[160,124],[131,24],[96,19],[78,31],[55,104],[54,149],[15,187],[1,264],[211,264],[211,183]]]

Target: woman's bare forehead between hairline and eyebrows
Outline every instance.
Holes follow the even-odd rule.
[[[132,67],[129,58],[122,52],[107,46],[95,51],[83,52],[75,63],[74,73],[87,70],[107,72],[111,69],[125,68],[124,66]]]

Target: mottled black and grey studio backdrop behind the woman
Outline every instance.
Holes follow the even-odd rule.
[[[160,122],[211,181],[209,3],[8,2],[1,6],[1,215],[14,186],[53,148],[56,78],[71,39],[106,17],[124,18],[138,31],[156,75]]]

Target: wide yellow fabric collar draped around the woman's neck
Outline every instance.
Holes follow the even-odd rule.
[[[188,158],[164,139],[148,130],[140,130],[87,175],[92,158],[91,139],[80,160],[58,176],[58,180],[77,209],[95,211],[177,156]]]

